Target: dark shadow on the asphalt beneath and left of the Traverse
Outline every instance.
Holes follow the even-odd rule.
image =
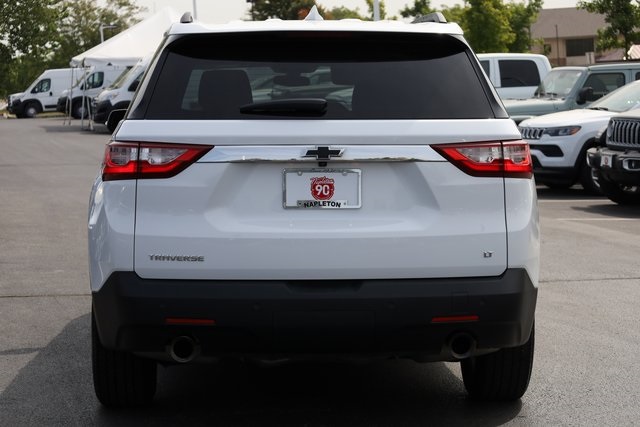
[[[159,369],[144,408],[113,410],[95,398],[90,317],[71,321],[0,396],[0,425],[495,426],[522,403],[469,400],[456,364],[386,361],[241,361]]]

